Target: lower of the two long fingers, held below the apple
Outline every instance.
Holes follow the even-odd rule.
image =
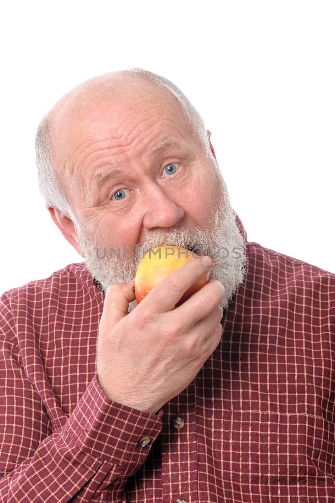
[[[174,316],[183,320],[185,329],[190,329],[206,317],[219,305],[225,296],[225,289],[218,280],[210,280],[198,292],[194,293],[182,305],[176,307]],[[222,310],[222,309],[221,309]]]

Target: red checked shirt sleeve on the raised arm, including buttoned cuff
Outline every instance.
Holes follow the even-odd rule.
[[[0,306],[1,307],[1,306]],[[109,399],[95,374],[63,427],[28,379],[0,309],[0,501],[117,502],[158,437],[157,414]],[[139,444],[142,437],[148,437]]]

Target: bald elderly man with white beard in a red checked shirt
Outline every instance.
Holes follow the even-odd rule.
[[[2,501],[335,500],[335,275],[247,241],[210,136],[141,68],[42,119],[40,190],[86,262],[1,296]],[[163,245],[203,259],[136,305],[137,246]]]

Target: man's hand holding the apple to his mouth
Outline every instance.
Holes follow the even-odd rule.
[[[176,304],[209,270],[202,260],[192,259],[129,314],[135,279],[108,287],[99,324],[97,374],[110,399],[156,413],[192,382],[220,342],[224,287],[210,280],[182,305]]]

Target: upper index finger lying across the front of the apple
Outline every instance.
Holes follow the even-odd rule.
[[[141,309],[150,309],[153,312],[167,312],[175,309],[177,302],[181,299],[183,294],[194,283],[204,278],[210,271],[212,265],[210,257],[203,257],[202,259],[192,259],[186,264],[176,269],[173,273],[169,274],[166,278],[160,281],[138,305]]]

